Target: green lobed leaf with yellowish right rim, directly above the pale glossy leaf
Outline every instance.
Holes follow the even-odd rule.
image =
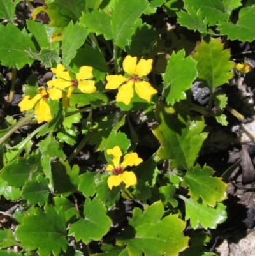
[[[228,185],[220,177],[212,177],[214,170],[211,167],[200,165],[191,167],[185,174],[182,186],[189,187],[189,195],[198,200],[200,197],[205,204],[214,207],[217,202],[227,198]]]

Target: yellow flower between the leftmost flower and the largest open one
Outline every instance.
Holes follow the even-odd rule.
[[[55,74],[57,79],[48,81],[48,89],[50,93],[50,98],[52,100],[59,100],[63,97],[64,107],[69,106],[69,98],[73,89],[78,87],[82,93],[94,93],[96,91],[95,81],[87,80],[92,79],[92,67],[82,66],[76,75],[76,79],[73,79],[66,68],[62,64],[58,64],[57,68],[52,68],[52,72]],[[65,91],[67,89],[67,91]]]

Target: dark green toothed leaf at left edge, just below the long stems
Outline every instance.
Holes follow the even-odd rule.
[[[6,165],[1,177],[7,181],[8,186],[19,188],[24,186],[29,177],[33,179],[42,172],[40,162],[41,154],[25,154],[24,158],[18,158]]]

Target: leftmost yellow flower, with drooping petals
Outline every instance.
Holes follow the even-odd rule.
[[[36,96],[30,98],[29,95],[26,95],[23,100],[18,103],[18,106],[21,112],[33,109],[35,106],[34,114],[36,114],[38,123],[42,123],[43,121],[50,122],[52,121],[52,114],[50,113],[50,106],[46,102],[48,97],[49,94],[47,90],[40,87],[38,88],[38,94],[36,94]]]

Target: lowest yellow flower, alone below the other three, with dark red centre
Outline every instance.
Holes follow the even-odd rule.
[[[120,163],[122,152],[119,146],[115,146],[113,149],[108,149],[106,152],[107,154],[113,155],[112,164],[108,164],[106,167],[106,171],[113,173],[113,176],[108,177],[107,181],[110,190],[112,190],[113,186],[119,186],[122,182],[126,184],[126,188],[129,188],[129,186],[135,186],[137,179],[134,172],[128,172],[125,168],[131,165],[139,165],[143,162],[142,158],[138,158],[136,153],[126,154],[123,162]]]

